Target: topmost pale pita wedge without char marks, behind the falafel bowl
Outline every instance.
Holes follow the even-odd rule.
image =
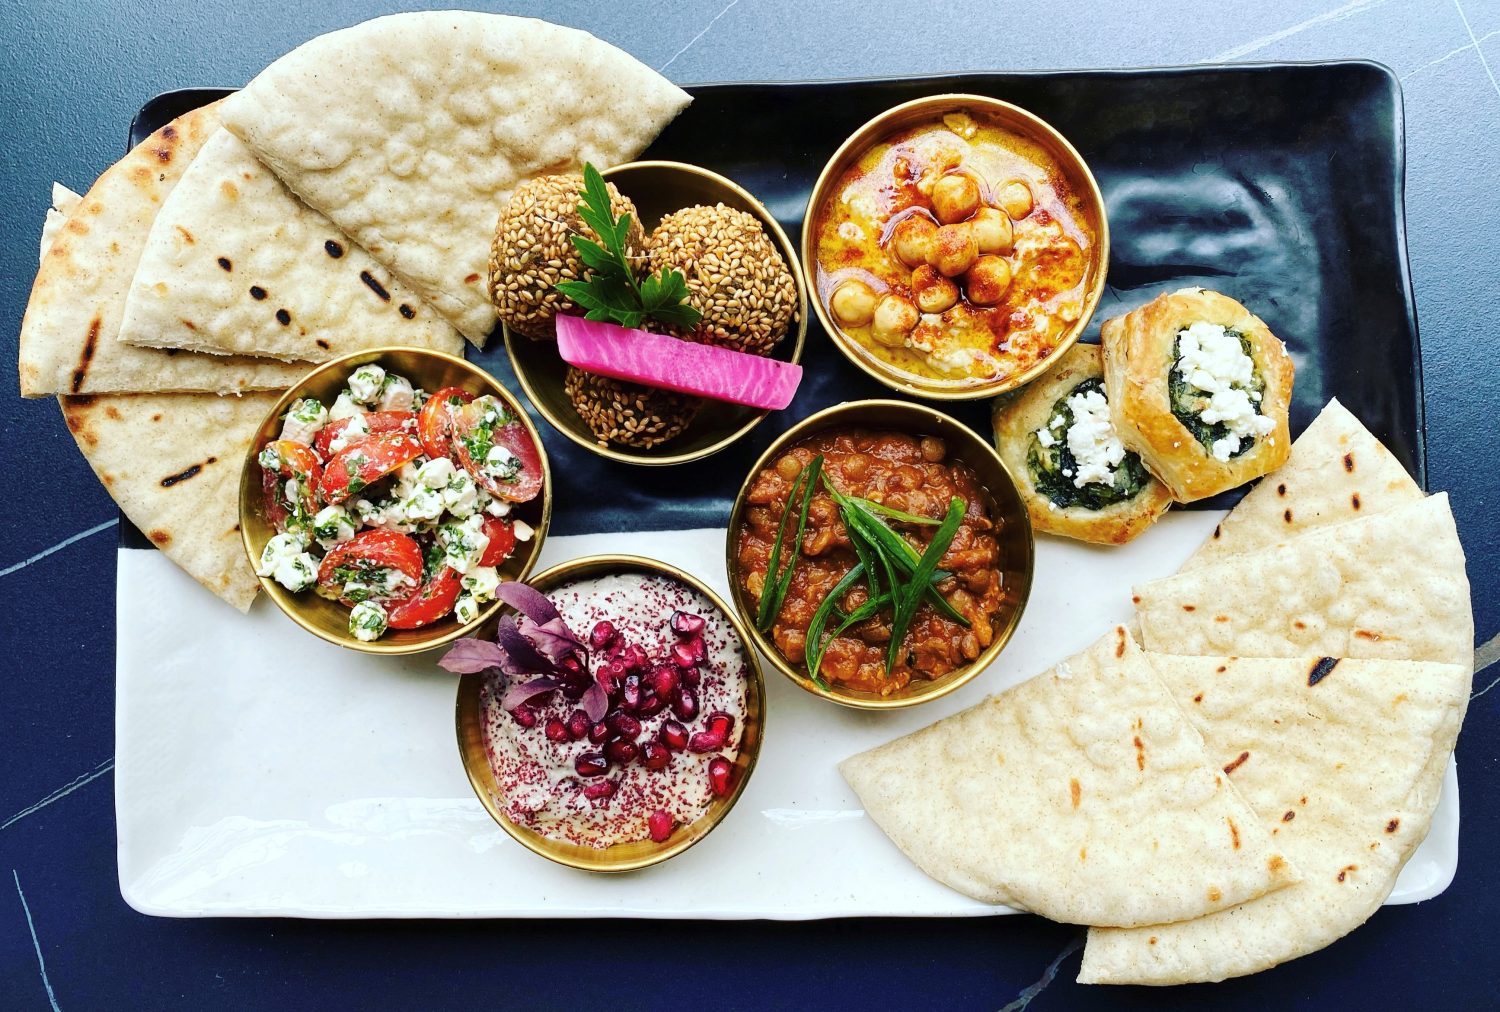
[[[312,39],[226,99],[224,121],[483,345],[489,246],[516,184],[628,162],[687,103],[585,31],[442,10]]]

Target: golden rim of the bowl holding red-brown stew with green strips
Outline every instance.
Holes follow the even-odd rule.
[[[765,637],[765,634],[760,633],[759,628],[756,628],[754,621],[750,618],[752,612],[748,604],[744,603],[744,592],[740,585],[740,564],[738,559],[735,558],[735,541],[736,541],[735,535],[740,528],[741,517],[744,516],[746,495],[750,492],[750,486],[754,481],[754,477],[760,474],[760,471],[766,468],[771,460],[774,460],[780,453],[783,453],[792,444],[800,442],[801,439],[804,439],[808,435],[813,435],[814,432],[834,427],[844,415],[870,408],[897,411],[898,414],[908,417],[914,415],[921,415],[926,418],[938,417],[945,420],[945,424],[952,426],[958,432],[972,436],[974,442],[982,450],[982,456],[986,456],[987,462],[993,463],[996,472],[999,475],[1004,475],[1005,481],[1010,483],[1011,496],[1014,498],[1014,508],[1006,513],[1006,519],[1008,520],[1012,519],[1010,514],[1014,514],[1014,520],[1020,522],[1023,532],[1023,544],[1026,546],[1024,565],[1020,567],[1026,576],[1026,583],[1020,595],[1020,600],[1016,604],[1014,612],[1011,613],[1010,619],[1005,624],[1005,628],[996,633],[990,645],[984,648],[984,651],[976,658],[974,658],[974,661],[970,661],[964,667],[957,669],[956,672],[944,675],[942,679],[938,679],[939,684],[936,685],[936,688],[906,696],[888,696],[888,697],[876,697],[873,694],[852,696],[838,691],[832,685],[828,690],[824,690],[819,688],[804,673],[798,672],[784,657],[782,657],[782,652],[776,648],[776,643],[770,642]],[[900,426],[892,424],[890,427],[896,430],[912,432],[912,427],[909,424],[900,424]],[[966,457],[960,457],[960,460],[968,462]],[[972,468],[974,465],[970,463],[969,466]],[[994,489],[988,489],[988,486],[986,486],[986,489],[990,492],[992,499],[998,498]],[[756,462],[750,465],[750,472],[746,477],[744,483],[740,486],[740,493],[735,496],[735,502],[729,510],[729,523],[724,535],[724,573],[729,577],[729,597],[734,601],[735,609],[740,610],[740,618],[742,619],[742,624],[746,625],[746,628],[750,630],[752,642],[754,643],[756,649],[760,654],[764,654],[765,658],[771,663],[771,667],[774,667],[777,672],[790,679],[798,688],[812,693],[819,699],[826,699],[830,702],[838,703],[840,706],[849,706],[852,709],[862,709],[862,711],[897,711],[897,709],[908,709],[910,706],[920,706],[922,703],[928,703],[936,699],[942,699],[944,696],[948,696],[950,693],[963,688],[975,678],[978,678],[980,673],[988,669],[990,664],[996,661],[996,658],[999,658],[1000,652],[1004,652],[1005,646],[1016,634],[1016,630],[1020,627],[1022,616],[1026,613],[1026,604],[1030,601],[1030,594],[1036,583],[1036,538],[1035,532],[1032,531],[1030,514],[1026,511],[1026,504],[1020,496],[1020,490],[1016,487],[1016,480],[1011,477],[1010,468],[1005,466],[1005,462],[1000,457],[999,451],[996,451],[996,448],[987,439],[984,439],[984,436],[978,435],[976,432],[974,432],[974,429],[963,424],[952,415],[939,411],[936,406],[920,405],[910,400],[890,400],[882,397],[872,397],[864,400],[844,400],[842,403],[831,405],[828,408],[824,408],[822,411],[818,411],[802,418],[795,426],[792,426],[780,436],[777,436],[771,442],[771,445],[768,445],[765,451],[756,459]]]

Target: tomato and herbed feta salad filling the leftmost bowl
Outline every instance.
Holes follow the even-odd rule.
[[[426,393],[375,364],[333,405],[292,402],[258,457],[266,543],[256,574],[350,609],[350,634],[478,616],[534,531],[510,516],[542,492],[542,457],[498,397]]]

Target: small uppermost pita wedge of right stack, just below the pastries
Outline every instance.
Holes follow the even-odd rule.
[[[1424,495],[1395,454],[1348,408],[1329,400],[1292,444],[1286,466],[1256,486],[1182,568],[1281,544]]]

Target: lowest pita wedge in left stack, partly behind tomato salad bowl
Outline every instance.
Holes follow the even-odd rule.
[[[104,487],[166,558],[242,612],[260,582],[240,541],[240,468],[276,394],[58,397]]]

